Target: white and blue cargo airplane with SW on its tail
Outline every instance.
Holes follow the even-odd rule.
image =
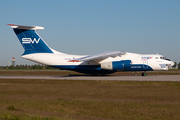
[[[40,26],[7,24],[13,28],[24,48],[22,58],[60,70],[71,70],[91,75],[106,75],[117,71],[168,70],[174,62],[158,54],[136,54],[122,51],[109,51],[95,55],[71,55],[58,52],[40,37],[36,30]]]

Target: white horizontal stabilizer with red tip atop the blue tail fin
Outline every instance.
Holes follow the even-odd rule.
[[[24,26],[24,25],[15,25],[15,24],[7,24],[10,25],[11,28],[15,29],[23,29],[23,30],[43,30],[44,27],[40,26]]]

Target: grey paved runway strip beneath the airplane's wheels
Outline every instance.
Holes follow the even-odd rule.
[[[180,75],[149,76],[28,76],[0,75],[0,79],[51,79],[51,80],[119,80],[119,81],[179,81]]]

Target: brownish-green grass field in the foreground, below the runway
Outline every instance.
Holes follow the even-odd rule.
[[[0,119],[178,120],[180,82],[0,79]]]

